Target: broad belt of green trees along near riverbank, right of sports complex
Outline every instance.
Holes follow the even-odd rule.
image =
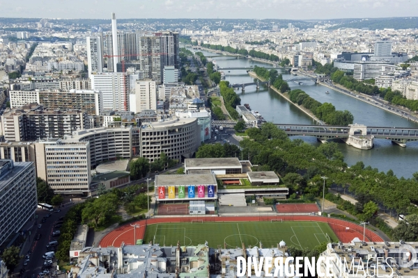
[[[240,142],[242,156],[248,157],[254,170],[273,170],[292,193],[318,196],[322,193],[323,179],[326,186],[350,188],[356,198],[363,196],[363,208],[359,213],[373,211],[371,204],[382,204],[397,213],[418,214],[418,172],[412,179],[398,178],[392,170],[379,172],[377,168],[365,167],[361,161],[348,167],[336,143],[315,147],[303,140],[290,140],[284,131],[274,124],[263,124],[261,129],[247,129],[248,138]],[[216,157],[216,156],[214,156]],[[366,215],[369,217],[369,215]],[[399,239],[399,238],[396,238]]]

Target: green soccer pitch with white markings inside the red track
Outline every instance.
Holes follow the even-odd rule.
[[[338,242],[327,223],[307,221],[273,222],[181,222],[148,224],[144,242],[160,246],[194,246],[208,241],[209,247],[277,247],[281,240],[287,246],[313,248],[323,242]]]

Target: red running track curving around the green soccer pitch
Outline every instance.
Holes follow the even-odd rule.
[[[336,236],[343,243],[349,243],[353,238],[358,237],[362,240],[363,227],[353,222],[335,218],[325,218],[323,216],[314,215],[274,215],[274,216],[231,216],[231,217],[179,217],[179,218],[153,218],[148,220],[140,220],[133,224],[139,224],[139,228],[136,228],[136,238],[144,238],[145,229],[147,224],[159,224],[159,223],[174,223],[174,222],[191,222],[192,220],[203,220],[205,222],[258,222],[258,221],[270,221],[272,219],[280,218],[284,221],[314,221],[314,222],[326,222],[330,224],[330,227],[334,230]],[[134,227],[131,224],[125,224],[118,229],[114,229],[109,232],[99,245],[101,247],[119,247],[122,242],[125,245],[134,245]],[[349,227],[350,229],[346,229]],[[383,242],[384,240],[378,236],[375,232],[366,229],[366,241],[369,242]]]

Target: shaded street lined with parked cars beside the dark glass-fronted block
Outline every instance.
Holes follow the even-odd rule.
[[[36,210],[38,215],[37,223],[36,223],[36,232],[31,235],[31,252],[29,263],[26,265],[26,272],[24,272],[24,276],[31,277],[31,275],[35,275],[38,277],[39,272],[42,271],[42,265],[44,263],[44,259],[42,255],[47,252],[47,244],[52,240],[58,240],[58,237],[52,237],[52,231],[59,231],[59,229],[54,229],[54,223],[58,221],[59,218],[64,217],[68,210],[71,208],[73,204],[67,204],[64,207],[61,206],[61,212],[54,213],[52,211],[45,211],[40,208]],[[51,213],[51,216],[47,218],[47,220],[42,223],[42,218],[45,215]],[[40,228],[37,228],[38,224],[42,224]],[[35,240],[38,234],[41,234],[39,240]],[[53,260],[55,261],[55,260]],[[51,268],[52,269],[52,268]]]

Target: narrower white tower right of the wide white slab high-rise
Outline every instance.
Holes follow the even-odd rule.
[[[135,82],[135,90],[130,95],[130,111],[157,110],[157,83],[150,79]]]

